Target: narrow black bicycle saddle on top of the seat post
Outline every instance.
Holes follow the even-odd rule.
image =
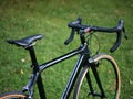
[[[28,48],[33,44],[33,42],[35,42],[37,40],[41,40],[42,37],[43,35],[37,34],[37,35],[28,36],[21,40],[7,40],[7,42],[9,44],[14,44],[17,46],[22,46],[24,48]]]

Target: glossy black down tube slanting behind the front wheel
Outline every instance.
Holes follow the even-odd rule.
[[[81,54],[78,62],[76,62],[76,64],[75,64],[75,66],[74,66],[74,68],[73,68],[73,72],[72,72],[71,77],[70,77],[70,79],[69,79],[69,81],[66,84],[66,87],[65,87],[65,89],[64,89],[64,91],[62,94],[61,99],[68,99],[70,97],[72,88],[73,88],[73,86],[75,84],[76,77],[78,77],[78,75],[80,73],[81,66],[83,64],[83,59],[84,59],[84,55]]]

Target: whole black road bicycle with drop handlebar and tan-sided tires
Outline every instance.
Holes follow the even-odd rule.
[[[76,50],[41,65],[37,62],[33,45],[34,42],[41,40],[43,35],[37,34],[21,40],[8,40],[8,43],[21,46],[29,51],[32,62],[32,74],[28,84],[21,91],[0,95],[0,99],[32,99],[34,84],[38,85],[40,98],[47,99],[41,73],[75,55],[79,55],[79,59],[72,70],[61,99],[70,98],[73,87],[73,99],[85,99],[91,97],[119,99],[121,78],[117,64],[112,56],[105,53],[100,54],[96,52],[91,56],[89,40],[95,32],[116,33],[116,42],[110,50],[110,52],[114,52],[121,44],[122,32],[126,38],[124,22],[123,20],[120,20],[119,24],[114,28],[82,25],[81,22],[82,19],[78,18],[76,21],[69,23],[68,26],[71,28],[72,31],[70,37],[64,42],[64,44],[68,45],[74,38],[74,34],[78,33],[80,35],[81,45]]]

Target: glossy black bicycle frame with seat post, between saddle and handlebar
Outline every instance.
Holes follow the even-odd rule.
[[[72,52],[70,52],[68,54],[64,54],[64,55],[62,55],[62,56],[60,56],[58,58],[49,61],[49,62],[47,62],[47,63],[44,63],[42,65],[38,65],[33,46],[28,48],[28,51],[30,52],[30,56],[31,56],[31,62],[32,62],[31,67],[33,68],[33,73],[32,73],[31,78],[30,78],[29,82],[27,84],[27,86],[23,87],[22,91],[23,92],[29,91],[29,98],[32,97],[32,95],[33,95],[33,85],[37,82],[40,98],[41,99],[47,99],[45,92],[44,92],[44,87],[43,87],[43,84],[42,84],[41,72],[43,72],[45,68],[49,68],[49,67],[51,67],[51,66],[53,66],[53,65],[55,65],[55,64],[58,64],[58,63],[60,63],[62,61],[65,61],[65,59],[72,57],[72,56],[75,56],[75,55],[79,54],[80,55],[79,59],[78,59],[72,73],[71,73],[70,79],[69,79],[69,81],[66,84],[66,87],[65,87],[65,89],[64,89],[64,91],[62,94],[61,99],[68,99],[70,97],[70,94],[71,94],[71,91],[73,89],[73,86],[74,86],[74,84],[76,81],[76,78],[78,78],[78,76],[80,74],[80,70],[81,70],[82,66],[84,66],[86,64],[90,65],[90,63],[89,63],[90,51],[88,48],[88,44],[84,41],[84,36],[80,36],[80,37],[81,37],[81,46],[78,50],[74,50],[74,51],[72,51]],[[94,75],[95,74],[98,75],[96,72],[94,72]],[[95,78],[99,79],[99,76],[96,76],[96,75],[95,75]],[[100,89],[103,90],[102,86],[101,86],[101,81],[100,80],[98,80],[98,81],[99,81],[98,85],[100,85]],[[89,85],[91,85],[90,81],[88,81],[88,82],[89,82]],[[91,88],[91,90],[93,90],[93,89]]]

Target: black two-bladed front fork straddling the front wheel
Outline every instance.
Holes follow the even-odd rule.
[[[93,73],[93,75],[94,75],[94,78],[95,78],[95,80],[96,80],[96,84],[98,84],[98,87],[99,87],[101,94],[98,94],[96,91],[94,91],[93,86],[92,86],[92,80],[91,80],[91,77],[90,77],[90,73],[89,73],[89,70],[88,70],[85,77],[86,77],[86,81],[88,81],[88,84],[89,84],[90,91],[91,91],[91,92],[88,94],[88,96],[89,96],[89,95],[92,95],[92,96],[94,96],[94,97],[98,96],[98,97],[101,97],[101,99],[102,99],[102,98],[105,98],[105,92],[104,92],[104,90],[103,90],[103,87],[102,87],[102,84],[101,84],[101,80],[100,80],[100,77],[99,77],[96,67],[98,67],[98,66],[96,66],[96,64],[94,64],[94,63],[91,64],[91,66],[90,66],[90,68],[92,69],[92,73]]]

